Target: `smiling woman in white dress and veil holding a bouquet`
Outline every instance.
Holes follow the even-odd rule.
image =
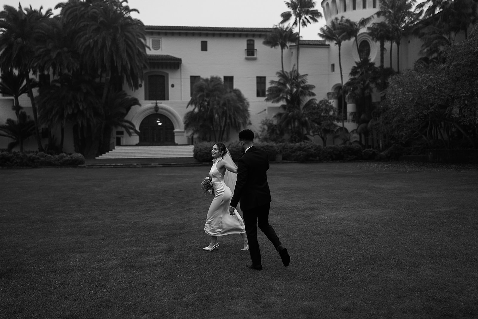
[[[229,203],[236,186],[238,168],[232,161],[226,145],[216,143],[212,147],[213,165],[209,171],[214,187],[214,199],[207,211],[204,231],[211,236],[211,243],[204,250],[212,251],[219,247],[217,236],[241,234],[244,248],[249,250],[244,221],[237,210],[234,215],[229,214]]]

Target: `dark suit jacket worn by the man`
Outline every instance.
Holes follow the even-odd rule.
[[[238,161],[238,176],[231,206],[237,207],[240,200],[242,210],[253,209],[271,202],[271,191],[267,184],[269,158],[260,148],[251,146]]]

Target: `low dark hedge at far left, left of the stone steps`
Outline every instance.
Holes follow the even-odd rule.
[[[1,152],[1,167],[44,167],[44,166],[77,166],[85,164],[82,154],[51,155],[43,152],[20,153]]]

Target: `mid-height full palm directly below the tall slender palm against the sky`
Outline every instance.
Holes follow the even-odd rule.
[[[267,88],[266,101],[282,103],[282,111],[274,115],[277,124],[290,134],[292,142],[306,140],[310,123],[303,110],[314,106],[317,101],[314,85],[307,84],[307,75],[300,75],[295,68],[290,72],[277,72],[278,80],[271,80]],[[305,131],[305,132],[304,132]]]

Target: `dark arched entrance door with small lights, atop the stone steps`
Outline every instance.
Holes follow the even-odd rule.
[[[174,145],[173,122],[163,114],[150,114],[140,124],[138,145]]]

